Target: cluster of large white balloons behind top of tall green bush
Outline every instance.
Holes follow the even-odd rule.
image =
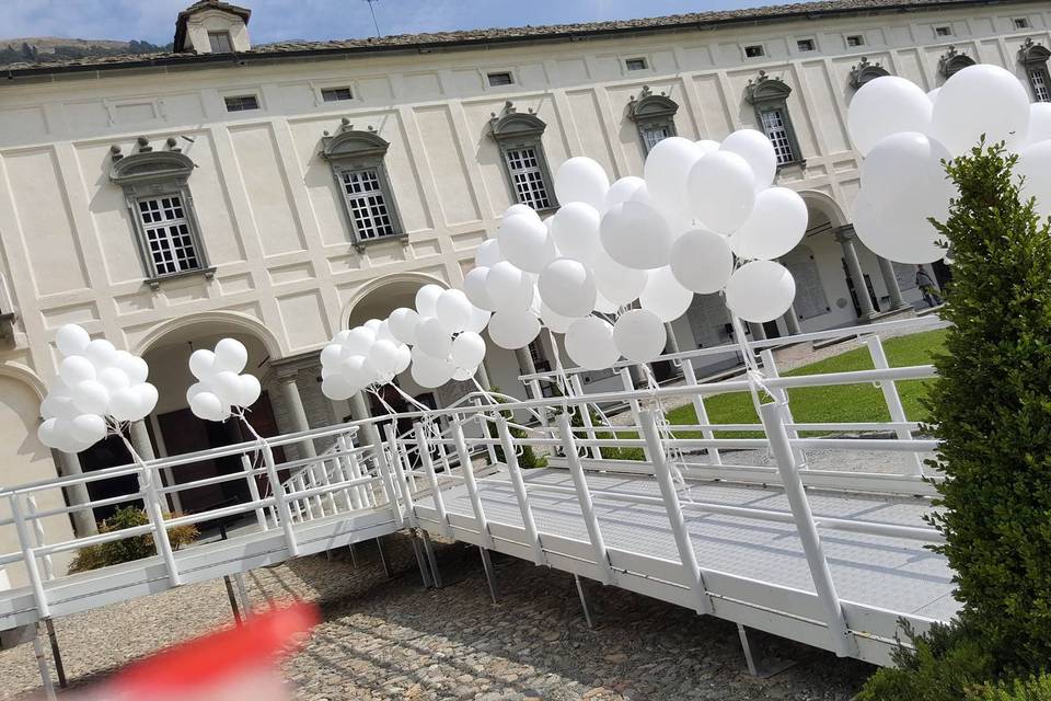
[[[847,127],[865,158],[854,229],[886,258],[922,264],[946,255],[927,219],[944,221],[957,194],[942,161],[983,136],[1018,153],[1024,194],[1051,214],[1051,104],[1030,104],[1018,78],[998,66],[969,66],[928,93],[904,78],[877,78],[854,95]]]

